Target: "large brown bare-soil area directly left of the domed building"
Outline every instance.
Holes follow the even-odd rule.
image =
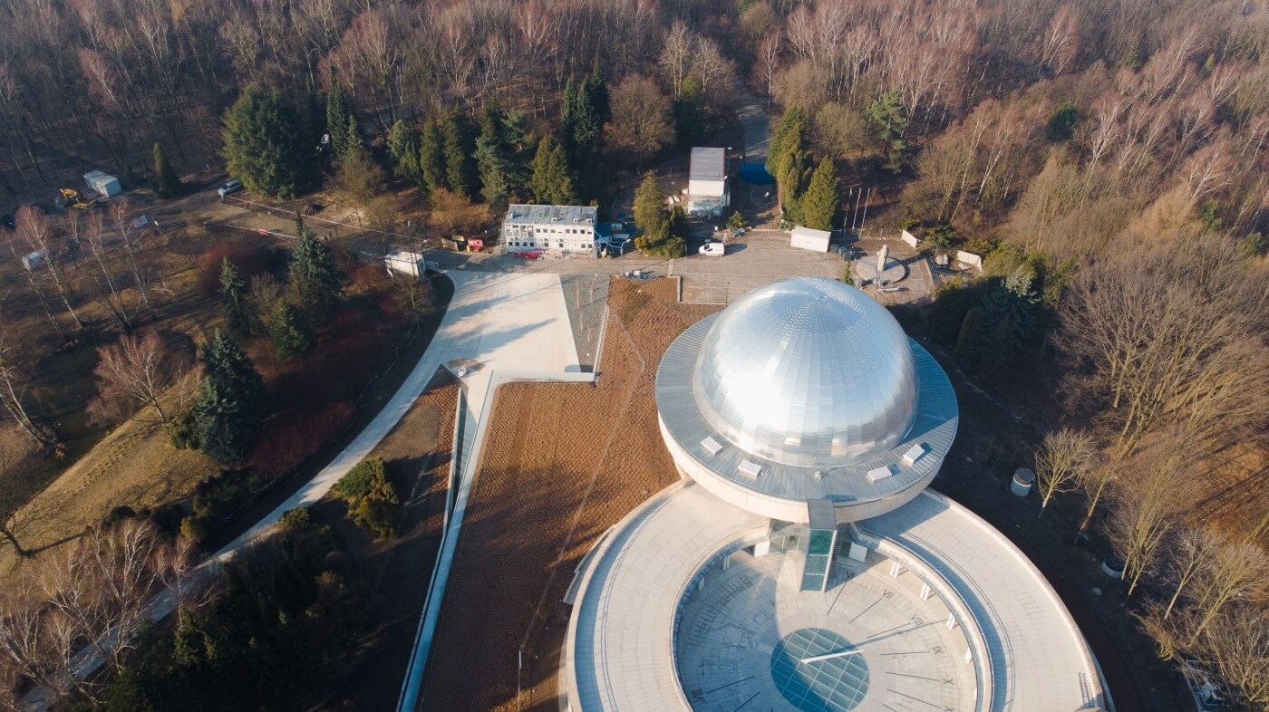
[[[670,279],[612,280],[595,386],[497,390],[428,656],[425,709],[558,709],[562,599],[577,564],[678,478],[656,425],[656,366],[720,307],[680,305]]]

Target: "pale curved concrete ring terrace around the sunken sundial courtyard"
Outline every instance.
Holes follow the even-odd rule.
[[[972,698],[970,709],[1075,712],[1110,707],[1096,663],[1066,608],[1030,561],[992,527],[933,491],[855,527],[854,538],[871,550],[869,556],[901,564],[902,570],[891,574],[896,586],[912,589],[928,583],[943,588],[939,602],[956,614],[964,645],[972,650],[964,663],[972,671],[962,671],[959,678],[976,690],[963,697]],[[570,619],[561,690],[569,708],[735,708],[727,707],[727,696],[689,698],[694,690],[726,687],[740,678],[718,666],[703,668],[692,671],[693,687],[685,689],[684,673],[678,669],[676,626],[690,605],[688,594],[717,570],[722,557],[768,537],[764,517],[732,506],[690,480],[654,495],[618,523],[584,574]],[[799,595],[820,600],[840,585],[839,580],[825,593]],[[796,609],[798,604],[787,605]],[[791,616],[796,621],[789,626],[799,630],[824,621]],[[794,632],[775,630],[786,637]],[[751,638],[746,645],[775,642]],[[873,697],[863,698],[868,706],[859,708],[886,709],[888,698],[881,696],[895,689],[878,688]],[[755,687],[754,692],[761,690]],[[768,697],[761,699],[763,708],[798,709],[787,698]],[[957,712],[966,709],[959,702],[952,706]]]

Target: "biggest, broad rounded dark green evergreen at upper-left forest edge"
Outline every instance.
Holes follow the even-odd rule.
[[[302,143],[294,112],[275,93],[250,85],[225,113],[221,128],[230,175],[249,189],[294,198],[312,175],[312,151]]]

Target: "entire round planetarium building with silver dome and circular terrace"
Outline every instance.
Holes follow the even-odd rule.
[[[582,564],[572,712],[1113,708],[1039,571],[926,489],[956,395],[867,293],[745,294],[674,341],[656,401],[681,478]]]

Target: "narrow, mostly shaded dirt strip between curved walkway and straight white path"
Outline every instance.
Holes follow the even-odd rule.
[[[440,546],[458,390],[458,381],[438,369],[401,421],[371,452],[369,457],[385,461],[405,503],[397,539],[372,539],[345,519],[344,504],[330,495],[313,506],[313,514],[334,528],[339,548],[352,556],[357,577],[369,583],[378,621],[362,638],[346,684],[324,709],[371,712],[396,704]]]

